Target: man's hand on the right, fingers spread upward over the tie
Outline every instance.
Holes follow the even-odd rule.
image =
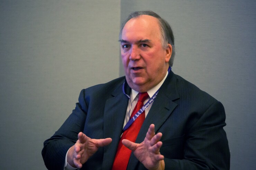
[[[162,133],[155,134],[155,125],[149,126],[146,138],[141,143],[134,143],[127,139],[122,140],[124,146],[134,152],[135,157],[149,170],[164,169],[164,156],[159,150],[162,142],[159,141]]]

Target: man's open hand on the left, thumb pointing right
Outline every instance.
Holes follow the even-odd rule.
[[[78,133],[78,140],[68,150],[67,162],[76,168],[82,168],[82,165],[98,150],[99,147],[107,146],[112,142],[111,138],[91,139],[83,132]]]

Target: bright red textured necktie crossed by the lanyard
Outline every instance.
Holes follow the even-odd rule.
[[[138,102],[137,102],[134,110],[132,111],[130,119],[143,107],[143,105],[144,105],[143,102],[147,98],[148,98],[147,92],[139,93]],[[145,111],[143,111],[140,114],[140,116],[131,124],[131,126],[126,131],[124,131],[124,133],[122,134],[122,137],[118,144],[117,153],[116,153],[116,157],[115,157],[115,160],[113,163],[112,170],[126,170],[128,162],[129,162],[129,158],[131,155],[131,150],[126,148],[122,144],[122,140],[128,139],[131,142],[135,142],[144,120],[145,120]]]

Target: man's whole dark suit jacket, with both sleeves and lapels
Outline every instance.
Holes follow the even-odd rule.
[[[72,114],[44,142],[43,159],[48,169],[63,169],[67,150],[83,131],[94,139],[112,138],[83,165],[87,170],[110,170],[122,133],[128,98],[122,92],[125,77],[81,91]],[[130,87],[125,86],[126,93]],[[230,153],[223,130],[222,104],[190,82],[171,72],[164,81],[140,129],[136,143],[144,140],[149,125],[162,132],[161,154],[167,170],[229,169]],[[82,168],[82,169],[83,169]],[[145,167],[131,154],[127,170]]]

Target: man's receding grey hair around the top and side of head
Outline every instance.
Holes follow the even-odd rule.
[[[161,18],[157,13],[153,12],[153,11],[135,11],[129,14],[129,16],[123,21],[121,29],[120,29],[120,33],[119,33],[119,39],[122,39],[122,31],[125,27],[125,24],[132,18],[137,18],[141,15],[148,15],[148,16],[152,16],[155,17],[158,22],[159,22],[159,27],[161,30],[161,36],[162,36],[162,46],[163,48],[166,48],[168,45],[167,44],[171,44],[172,46],[172,55],[171,55],[171,59],[169,61],[170,67],[173,66],[173,60],[174,60],[174,56],[175,56],[175,48],[174,48],[174,36],[173,36],[173,31],[171,26],[168,24],[167,21],[165,21],[163,18]]]

